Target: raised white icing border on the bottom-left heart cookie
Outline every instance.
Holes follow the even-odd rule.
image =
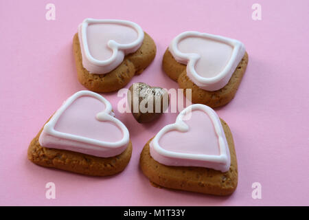
[[[99,113],[97,113],[96,118],[99,121],[111,121],[113,123],[115,123],[119,129],[122,130],[123,132],[123,137],[122,140],[119,140],[117,142],[104,142],[104,141],[100,141],[100,140],[94,140],[92,138],[89,137],[82,137],[79,135],[73,135],[70,133],[62,133],[60,131],[56,131],[54,129],[56,123],[58,122],[58,119],[60,118],[60,116],[62,115],[62,113],[78,98],[80,98],[81,96],[91,96],[93,98],[96,98],[98,100],[100,100],[102,103],[104,103],[105,105],[105,109],[104,111],[101,111]],[[65,140],[65,145],[67,146],[71,146],[70,142],[67,141],[71,141],[71,142],[79,142],[82,144],[82,146],[77,147],[78,148],[87,148],[89,149],[95,149],[100,151],[101,150],[106,150],[106,148],[121,148],[123,146],[126,146],[129,142],[129,132],[128,129],[126,128],[126,126],[117,118],[114,117],[114,113],[112,111],[112,106],[111,103],[108,102],[108,100],[106,100],[104,97],[100,96],[99,94],[96,94],[92,91],[87,91],[87,90],[83,90],[83,91],[78,91],[76,92],[76,94],[73,94],[73,96],[69,97],[63,104],[62,106],[56,111],[56,113],[54,113],[54,115],[52,116],[52,118],[49,120],[49,122],[47,122],[44,126],[44,129],[39,137],[39,142],[42,146],[44,146],[42,144],[43,140],[43,136],[45,135],[45,137],[47,136],[52,136],[52,137],[56,137],[58,139],[64,139]],[[48,141],[47,141],[48,142]],[[54,142],[52,142],[52,144],[54,144]],[[78,144],[79,145],[79,144]],[[89,146],[90,145],[90,146]],[[99,148],[98,148],[99,147]],[[62,147],[59,147],[62,148]],[[71,149],[71,151],[73,151],[73,148]],[[80,152],[80,151],[77,151]],[[117,152],[118,155],[119,153]]]

